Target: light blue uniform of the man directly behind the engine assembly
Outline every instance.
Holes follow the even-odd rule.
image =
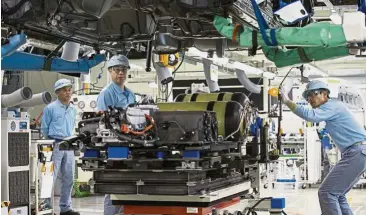
[[[136,103],[135,94],[125,87],[122,89],[114,82],[107,85],[99,94],[97,99],[98,111],[105,111],[108,107],[126,108],[129,104]],[[122,207],[112,205],[111,195],[105,195],[104,215],[115,215],[122,213]]]

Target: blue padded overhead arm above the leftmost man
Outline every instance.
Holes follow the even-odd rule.
[[[102,54],[91,58],[80,58],[76,62],[53,56],[35,55],[16,51],[26,43],[26,36],[18,34],[9,38],[9,43],[1,46],[1,69],[7,71],[50,71],[62,73],[89,73],[89,69],[105,60]],[[59,45],[60,49],[64,41]],[[55,51],[58,51],[57,49]]]

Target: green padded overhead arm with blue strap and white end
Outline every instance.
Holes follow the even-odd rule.
[[[252,55],[262,47],[264,55],[277,67],[348,56],[351,45],[360,47],[366,41],[365,14],[361,11],[344,13],[342,25],[319,22],[305,27],[271,29],[261,17],[258,5],[252,2],[260,23],[259,32],[219,16],[213,24],[221,35],[250,48]]]

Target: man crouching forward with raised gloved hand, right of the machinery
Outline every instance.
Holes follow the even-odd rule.
[[[366,131],[341,101],[330,99],[328,85],[319,80],[308,83],[302,96],[312,108],[297,105],[281,88],[283,102],[299,117],[310,122],[326,122],[326,129],[341,160],[333,167],[319,188],[318,196],[323,215],[353,214],[345,194],[366,171]]]

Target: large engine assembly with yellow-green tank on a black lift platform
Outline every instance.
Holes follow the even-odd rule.
[[[89,114],[75,138],[84,145],[81,168],[94,172],[95,193],[202,195],[253,182],[259,163],[276,159],[268,124],[258,119],[242,93],[180,95],[172,103]]]

